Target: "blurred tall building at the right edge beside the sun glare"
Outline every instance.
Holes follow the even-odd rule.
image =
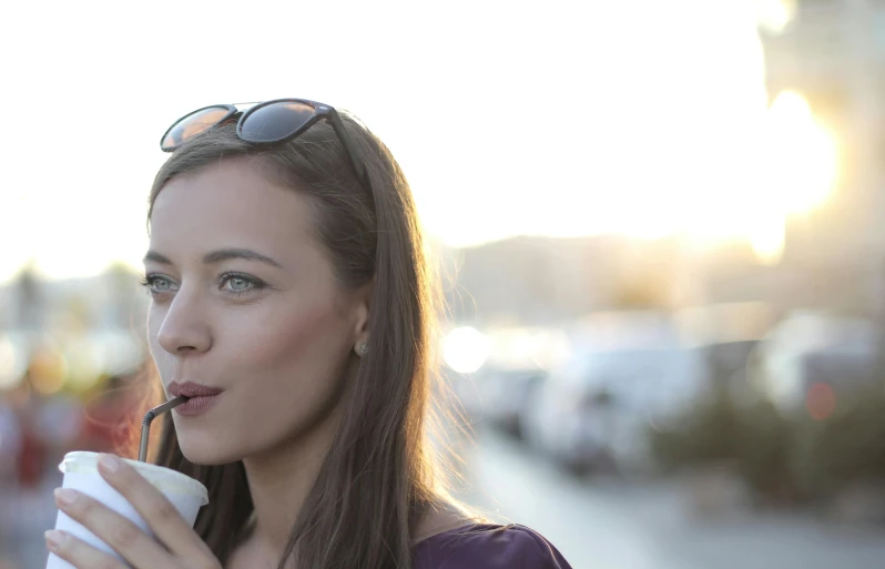
[[[770,102],[800,93],[838,141],[827,205],[787,225],[783,299],[883,314],[885,301],[885,1],[784,0],[791,19],[761,29]]]

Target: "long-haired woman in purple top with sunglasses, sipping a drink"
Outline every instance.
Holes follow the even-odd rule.
[[[191,399],[157,461],[210,505],[191,529],[106,456],[155,539],[81,495],[59,492],[60,508],[135,568],[568,567],[440,485],[426,428],[437,288],[387,148],[303,100],[195,111],[162,146],[148,328],[166,395]],[[69,536],[48,545],[75,567],[122,567]]]

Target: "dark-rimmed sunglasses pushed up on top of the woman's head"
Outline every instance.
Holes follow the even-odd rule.
[[[185,114],[163,134],[160,148],[173,152],[185,141],[231,120],[240,113],[233,104],[213,104]],[[252,144],[277,144],[291,141],[319,122],[326,120],[342,141],[357,180],[372,192],[366,166],[356,152],[337,111],[332,106],[304,99],[277,99],[257,103],[243,112],[236,123],[236,135]]]

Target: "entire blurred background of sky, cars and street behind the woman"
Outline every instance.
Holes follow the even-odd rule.
[[[0,27],[3,569],[43,567],[63,454],[140,423],[160,135],[282,96],[355,112],[411,181],[465,499],[576,569],[885,567],[885,1],[17,2]]]

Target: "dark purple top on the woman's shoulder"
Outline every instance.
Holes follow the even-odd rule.
[[[415,546],[414,569],[571,569],[538,532],[510,524],[476,524]]]

